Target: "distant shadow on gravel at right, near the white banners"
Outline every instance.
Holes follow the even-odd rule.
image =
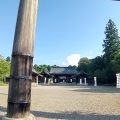
[[[64,86],[65,87],[65,86]],[[102,86],[98,86],[98,87],[94,87],[94,86],[77,86],[77,87],[68,87],[66,86],[65,88],[73,88],[71,91],[75,91],[75,92],[81,92],[81,93],[120,93],[120,89],[119,88],[115,88],[115,87],[102,87]],[[69,90],[69,89],[68,89]]]

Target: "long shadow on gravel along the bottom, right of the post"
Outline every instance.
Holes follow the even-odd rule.
[[[120,115],[98,115],[95,113],[77,113],[77,112],[64,112],[52,113],[42,111],[32,111],[36,117],[48,119],[64,119],[64,120],[120,120]],[[39,119],[39,118],[38,118]]]

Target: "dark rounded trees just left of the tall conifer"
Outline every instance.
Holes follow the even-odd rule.
[[[94,59],[88,59],[86,57],[81,58],[78,63],[78,71],[84,70],[89,74],[89,77],[97,76],[97,80],[106,80],[104,70],[104,59],[102,56],[97,56]]]

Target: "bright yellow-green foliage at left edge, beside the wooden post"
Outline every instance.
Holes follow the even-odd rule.
[[[7,62],[3,56],[0,55],[0,79],[10,75],[10,62]]]

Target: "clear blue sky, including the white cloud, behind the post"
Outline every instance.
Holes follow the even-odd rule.
[[[0,1],[0,54],[11,56],[19,0]],[[120,2],[39,0],[34,64],[77,65],[82,57],[102,55],[105,26],[120,30]]]

